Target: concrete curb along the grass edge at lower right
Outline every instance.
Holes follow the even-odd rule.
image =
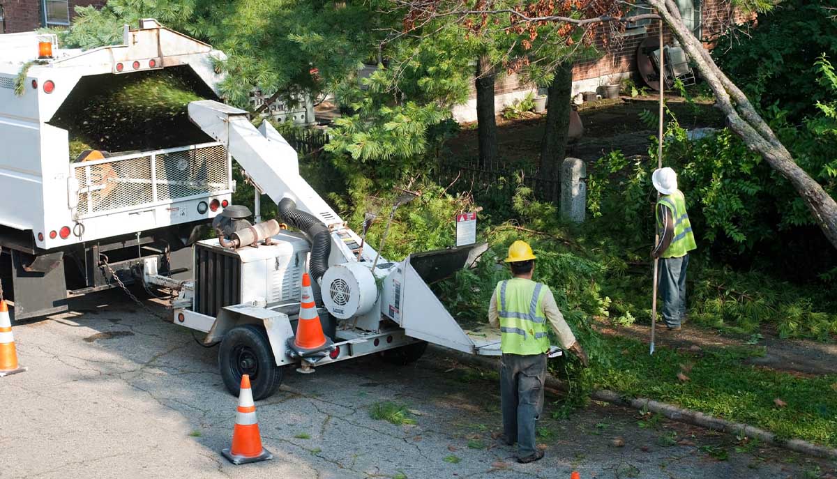
[[[459,351],[454,351],[448,348],[442,348],[433,344],[429,345],[429,349],[433,350],[435,353],[455,358],[460,363],[469,364],[471,366],[496,369],[500,365],[499,358],[489,358],[485,356],[475,356],[473,354],[460,353]],[[564,385],[558,379],[552,377],[552,375],[550,374],[547,374],[546,383],[546,385],[552,389],[558,389],[561,391],[566,390],[564,388]],[[711,415],[705,415],[701,412],[693,411],[691,409],[682,409],[672,404],[660,403],[659,401],[655,401],[653,399],[629,399],[620,396],[619,393],[609,391],[608,389],[596,389],[591,394],[591,397],[597,401],[603,401],[610,404],[617,404],[633,409],[648,410],[656,414],[664,415],[670,420],[696,425],[710,430],[718,430],[730,434],[740,434],[746,435],[747,437],[758,438],[758,440],[761,440],[767,444],[782,447],[784,449],[788,449],[789,451],[800,452],[809,456],[817,456],[824,457],[826,459],[837,460],[837,449],[833,447],[818,446],[806,440],[800,439],[783,440],[779,438],[777,435],[773,434],[772,432],[763,430],[761,428],[757,428],[752,425],[722,420],[720,418],[716,418]]]

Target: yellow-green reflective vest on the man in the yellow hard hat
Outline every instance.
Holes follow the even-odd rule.
[[[542,301],[548,286],[523,278],[497,283],[501,350],[508,354],[541,354],[549,351],[547,317]]]

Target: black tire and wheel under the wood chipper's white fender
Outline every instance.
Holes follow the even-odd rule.
[[[267,332],[254,324],[234,327],[223,337],[218,368],[223,384],[234,396],[239,395],[243,374],[250,375],[255,400],[269,397],[282,384],[282,368],[276,366]]]

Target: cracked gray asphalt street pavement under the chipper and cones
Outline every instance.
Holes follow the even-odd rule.
[[[541,421],[547,456],[517,464],[496,439],[496,373],[439,353],[406,367],[367,357],[311,375],[287,370],[280,391],[256,403],[274,459],[234,466],[219,454],[237,399],[223,388],[217,347],[201,347],[120,291],[13,332],[29,370],[0,379],[3,478],[804,478],[834,469],[607,404],[554,419],[557,396]],[[382,406],[403,408],[405,424],[373,417]]]

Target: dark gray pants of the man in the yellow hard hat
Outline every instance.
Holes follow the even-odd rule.
[[[517,442],[517,456],[535,454],[537,420],[543,409],[547,355],[503,354],[500,395],[506,440]]]

